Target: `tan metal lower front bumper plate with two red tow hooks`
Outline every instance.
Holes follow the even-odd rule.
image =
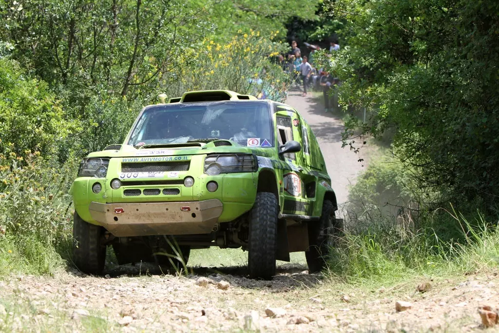
[[[182,211],[181,207],[189,207]],[[121,213],[116,213],[121,211]],[[89,205],[92,219],[116,237],[209,234],[222,214],[219,199],[190,202],[99,203]]]

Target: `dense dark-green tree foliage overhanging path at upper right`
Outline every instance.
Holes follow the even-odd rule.
[[[329,62],[344,105],[367,107],[347,136],[395,132],[420,188],[491,208],[499,195],[499,2],[338,0],[348,47]]]

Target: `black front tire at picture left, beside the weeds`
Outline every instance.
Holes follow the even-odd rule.
[[[73,263],[86,274],[100,275],[104,270],[106,246],[104,228],[85,222],[74,212]]]

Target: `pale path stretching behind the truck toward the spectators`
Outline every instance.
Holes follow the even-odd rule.
[[[357,162],[358,156],[348,147],[341,148],[343,122],[331,113],[324,112],[322,98],[310,93],[302,97],[301,91],[290,91],[286,104],[298,110],[315,133],[331,177],[331,187],[341,208],[348,199],[348,186],[355,183],[362,169],[361,163]]]

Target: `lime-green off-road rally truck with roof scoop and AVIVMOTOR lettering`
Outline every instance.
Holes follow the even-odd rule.
[[[248,251],[253,279],[271,279],[276,260],[299,251],[317,272],[341,229],[330,182],[294,108],[227,90],[163,96],[123,144],[81,162],[73,262],[101,274],[112,246],[120,265],[185,269],[191,249],[218,246]]]

